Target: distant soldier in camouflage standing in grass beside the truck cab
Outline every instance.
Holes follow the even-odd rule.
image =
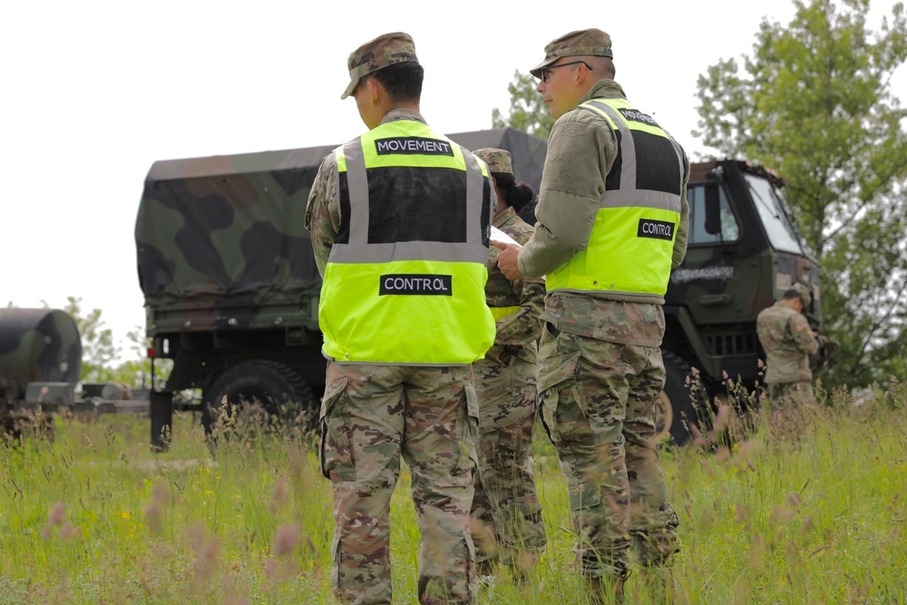
[[[766,351],[765,383],[775,425],[783,414],[794,414],[798,404],[814,403],[809,356],[818,350],[819,340],[803,315],[811,301],[809,288],[797,283],[756,317],[756,334]]]

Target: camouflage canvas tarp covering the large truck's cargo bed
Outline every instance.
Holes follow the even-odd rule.
[[[516,178],[538,188],[546,141],[512,128],[450,136],[467,149],[511,151]],[[333,148],[154,162],[135,226],[146,305],[263,307],[317,296],[306,203]]]

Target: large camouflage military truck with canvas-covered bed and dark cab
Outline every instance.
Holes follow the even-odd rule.
[[[546,141],[512,128],[450,135],[467,149],[511,151],[514,173],[538,190]],[[210,431],[229,406],[268,420],[317,415],[326,361],[317,302],[321,280],[304,227],[307,196],[333,145],[156,161],[142,192],[135,237],[149,355],[173,360],[151,393],[151,439],[174,409],[199,412]],[[709,390],[757,377],[756,314],[795,280],[814,289],[818,268],[769,171],[741,161],[696,164],[690,246],[665,306],[668,383],[663,424],[676,443],[696,422],[688,387],[695,366]],[[632,262],[626,259],[625,262]],[[367,327],[364,327],[367,329]],[[200,396],[174,403],[187,390]]]

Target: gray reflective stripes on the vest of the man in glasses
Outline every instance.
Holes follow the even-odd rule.
[[[620,132],[620,187],[617,190],[605,191],[604,195],[601,196],[600,208],[636,206],[679,213],[680,198],[678,196],[663,191],[638,190],[636,188],[636,142],[633,141],[633,132],[630,131],[626,120],[620,115],[620,112],[603,102],[589,101],[584,104],[592,105],[601,112],[607,113],[611,121],[617,124]],[[661,132],[665,132],[660,126],[658,126],[658,129]],[[668,132],[665,132],[665,134],[674,147],[674,151],[678,156],[680,174],[683,174],[683,151],[681,151],[677,141],[674,141]]]

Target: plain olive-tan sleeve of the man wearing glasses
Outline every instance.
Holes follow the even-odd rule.
[[[517,261],[523,275],[541,278],[589,246],[605,175],[616,156],[612,132],[591,123],[555,122],[535,209],[535,234]]]

